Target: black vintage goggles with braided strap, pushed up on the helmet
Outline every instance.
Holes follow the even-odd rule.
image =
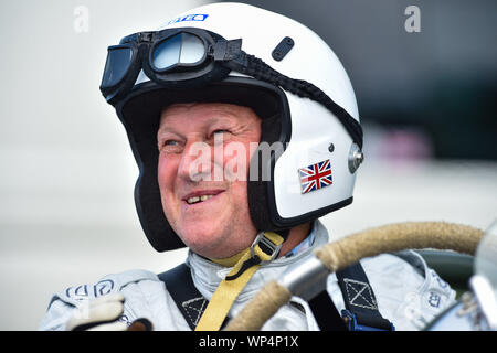
[[[134,88],[140,72],[156,84],[169,88],[189,88],[220,82],[235,71],[279,86],[299,97],[328,108],[362,148],[362,128],[342,107],[315,85],[289,78],[261,58],[242,51],[242,40],[195,28],[138,32],[108,47],[101,92],[116,105]]]

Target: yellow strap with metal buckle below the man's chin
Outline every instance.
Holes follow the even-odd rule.
[[[242,289],[263,263],[272,261],[279,253],[285,239],[276,233],[260,233],[252,246],[224,259],[212,261],[232,270],[222,280],[203,312],[195,331],[218,331]]]

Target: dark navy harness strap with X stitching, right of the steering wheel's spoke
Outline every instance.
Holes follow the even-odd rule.
[[[360,263],[336,272],[346,310],[342,317],[351,331],[393,331],[393,324],[378,310],[374,292]]]

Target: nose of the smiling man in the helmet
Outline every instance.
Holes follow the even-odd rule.
[[[201,140],[188,141],[178,165],[178,176],[188,181],[213,180],[213,148]]]

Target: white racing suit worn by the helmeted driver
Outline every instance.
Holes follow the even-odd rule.
[[[310,247],[294,256],[281,257],[261,266],[234,301],[229,312],[230,318],[235,317],[265,282],[282,278],[288,267],[298,266],[305,258],[311,256],[317,247],[328,243],[328,232],[319,221],[315,222],[313,232],[315,240]],[[231,270],[192,252],[189,252],[187,264],[197,289],[208,300]],[[455,302],[455,291],[414,252],[383,254],[362,259],[361,265],[374,292],[381,315],[390,320],[395,330],[423,329],[436,314]],[[328,277],[327,290],[336,308],[341,312],[345,309],[345,301],[335,274]],[[71,287],[55,295],[39,329],[64,330],[75,307],[117,291],[125,297],[120,321],[130,324],[136,319],[146,318],[150,320],[155,330],[190,330],[165,284],[156,274],[140,269],[108,275],[97,284]],[[192,315],[200,315],[194,308],[189,312]],[[198,319],[193,318],[193,321]],[[293,297],[289,303],[282,307],[262,329],[314,331],[319,330],[319,327],[308,303]]]

